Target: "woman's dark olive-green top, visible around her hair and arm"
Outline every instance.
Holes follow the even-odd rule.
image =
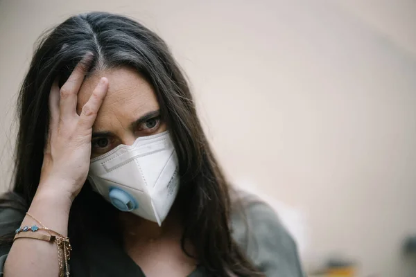
[[[297,247],[291,235],[282,226],[275,211],[252,195],[246,195],[243,213],[232,214],[233,236],[258,269],[268,277],[304,277]],[[12,208],[0,208],[0,236],[19,228],[24,214]],[[247,235],[249,234],[249,235]],[[248,239],[249,238],[249,239]],[[88,268],[76,255],[71,256],[73,277],[146,277],[140,267],[123,248],[99,233],[88,240],[85,247]],[[0,247],[0,277],[10,247]],[[73,253],[76,254],[76,253]],[[210,276],[200,266],[188,277]],[[7,277],[7,276],[6,276]]]

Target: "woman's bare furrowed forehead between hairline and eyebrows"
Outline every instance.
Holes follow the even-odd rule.
[[[157,98],[150,84],[134,69],[121,67],[98,71],[83,82],[78,93],[78,114],[101,77],[108,79],[108,90],[98,111],[94,129],[107,127],[106,123],[114,118],[119,121],[134,121],[149,111],[159,109]]]

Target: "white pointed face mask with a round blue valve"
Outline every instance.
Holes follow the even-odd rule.
[[[162,224],[179,188],[177,156],[169,133],[139,137],[91,160],[94,190],[121,211]]]

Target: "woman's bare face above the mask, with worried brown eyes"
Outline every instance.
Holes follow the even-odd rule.
[[[87,78],[78,93],[78,114],[101,77],[107,78],[109,85],[92,128],[92,158],[120,144],[132,145],[139,136],[166,130],[153,88],[127,67],[100,71]]]

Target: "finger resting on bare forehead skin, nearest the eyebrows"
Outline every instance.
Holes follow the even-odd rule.
[[[101,104],[103,104],[105,94],[107,93],[107,89],[107,78],[101,78],[94,91],[92,91],[91,96],[89,96],[88,102],[85,103],[83,111],[81,111],[79,124],[84,129],[91,129],[92,125],[94,125],[98,110],[100,109]]]

